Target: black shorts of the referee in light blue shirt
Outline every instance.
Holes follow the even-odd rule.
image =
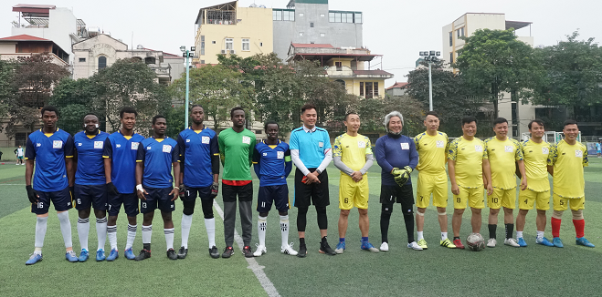
[[[315,169],[309,169],[310,172]],[[300,169],[295,170],[295,199],[294,205],[297,208],[307,208],[310,205],[328,206],[331,204],[330,195],[328,193],[328,172],[324,169],[318,179],[320,183],[312,183],[306,185],[301,182],[305,175]]]

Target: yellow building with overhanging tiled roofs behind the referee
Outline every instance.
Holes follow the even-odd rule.
[[[375,55],[366,48],[334,47],[328,44],[290,44],[286,61],[294,63],[298,60],[320,61],[326,75],[339,82],[347,89],[347,93],[355,96],[371,98],[385,97],[385,79],[393,74],[380,69],[370,69],[370,62]],[[364,64],[368,63],[365,69]]]

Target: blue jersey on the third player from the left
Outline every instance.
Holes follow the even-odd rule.
[[[140,134],[126,138],[120,131],[104,140],[102,157],[111,159],[111,181],[121,194],[132,194],[136,189],[136,157],[143,140]]]

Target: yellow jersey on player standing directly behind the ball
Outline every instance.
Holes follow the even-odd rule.
[[[456,161],[456,183],[462,188],[480,188],[483,185],[483,159],[487,159],[485,143],[479,138],[464,137],[449,143],[448,159]]]

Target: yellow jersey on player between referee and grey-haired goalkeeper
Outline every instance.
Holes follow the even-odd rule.
[[[365,155],[372,155],[370,138],[362,134],[350,136],[347,133],[334,138],[333,157],[341,157],[341,161],[354,171],[365,165]],[[343,171],[341,174],[344,175]]]

